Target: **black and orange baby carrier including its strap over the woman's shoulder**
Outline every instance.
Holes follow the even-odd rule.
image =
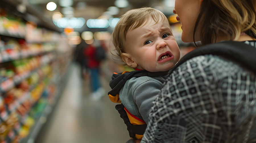
[[[170,74],[177,66],[183,64],[187,60],[200,56],[200,55],[218,55],[226,59],[238,62],[242,64],[245,68],[256,73],[256,49],[250,45],[247,45],[243,42],[238,41],[222,41],[215,44],[205,45],[198,49],[195,49],[181,58],[181,60],[169,71],[166,72],[147,72],[145,70],[141,71],[132,71],[124,72],[122,74],[114,73],[112,75],[112,81],[110,81],[110,87],[112,90],[108,92],[109,98],[112,102],[120,102],[119,100],[119,91],[124,86],[125,81],[132,77],[139,76],[149,76],[149,77],[158,77],[166,74]],[[130,137],[134,139],[141,139],[143,133],[146,129],[145,122],[133,121],[134,117],[125,110],[125,107],[122,104],[115,106],[116,110],[120,113],[120,117],[124,120],[127,125],[127,130],[129,131]]]

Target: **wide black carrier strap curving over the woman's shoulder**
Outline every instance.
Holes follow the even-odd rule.
[[[218,55],[238,63],[241,63],[249,70],[256,72],[256,48],[239,41],[221,41],[214,44],[199,47],[185,56],[170,70],[172,73],[178,66],[187,60],[200,55]]]

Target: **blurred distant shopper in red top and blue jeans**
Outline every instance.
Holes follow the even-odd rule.
[[[105,93],[105,90],[101,87],[100,83],[100,60],[101,57],[97,55],[96,49],[101,48],[100,45],[93,44],[88,45],[84,49],[84,61],[86,65],[86,72],[90,75],[90,83],[92,93],[90,94],[92,100],[99,100]],[[102,53],[101,53],[102,54]]]

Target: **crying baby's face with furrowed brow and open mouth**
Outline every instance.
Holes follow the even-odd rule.
[[[129,31],[126,44],[126,52],[141,70],[167,71],[180,58],[179,47],[166,20],[156,23],[150,19],[146,25]]]

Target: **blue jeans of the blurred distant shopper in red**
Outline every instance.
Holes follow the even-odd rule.
[[[98,88],[100,88],[100,75],[99,75],[99,68],[90,69],[91,70],[91,86],[92,86],[92,92],[96,91]]]

